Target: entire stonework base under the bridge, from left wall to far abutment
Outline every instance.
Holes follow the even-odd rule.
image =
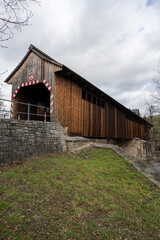
[[[69,137],[67,128],[60,123],[0,119],[0,165],[73,151],[91,146],[92,142],[116,144],[134,157],[151,159],[151,144],[142,139],[124,141]]]

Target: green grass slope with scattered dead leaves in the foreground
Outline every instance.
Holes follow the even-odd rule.
[[[3,167],[1,239],[160,239],[160,191],[112,150]]]

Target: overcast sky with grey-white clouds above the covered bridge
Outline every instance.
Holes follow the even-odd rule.
[[[0,48],[0,82],[30,44],[71,68],[128,108],[144,98],[160,60],[160,0],[42,0],[29,27]],[[4,84],[5,98],[11,87]]]

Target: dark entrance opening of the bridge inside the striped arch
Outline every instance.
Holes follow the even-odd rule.
[[[18,118],[20,114],[20,119],[27,120],[29,112],[29,120],[43,121],[46,112],[46,120],[50,121],[50,92],[43,83],[21,87],[15,101],[19,103],[14,103],[17,113],[13,118]]]

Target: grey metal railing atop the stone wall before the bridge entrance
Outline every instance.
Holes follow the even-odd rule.
[[[0,118],[51,121],[50,108],[0,98]]]

